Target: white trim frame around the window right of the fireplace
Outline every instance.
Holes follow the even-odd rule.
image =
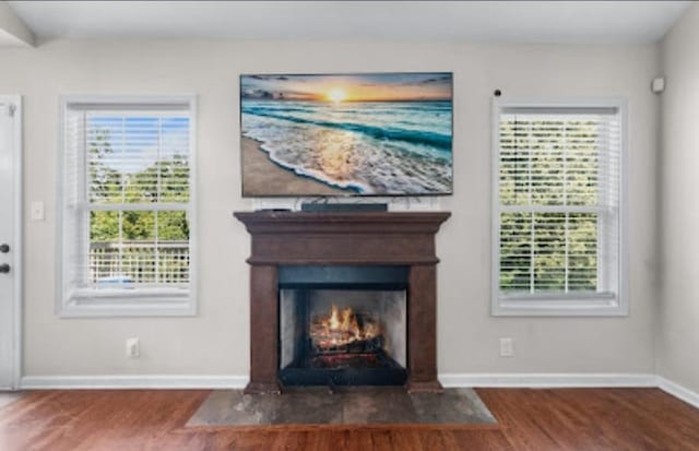
[[[621,186],[619,187],[619,241],[618,241],[618,293],[569,295],[501,295],[499,287],[500,261],[500,205],[499,205],[499,156],[500,111],[503,108],[523,107],[612,107],[620,115]],[[490,314],[494,317],[626,317],[629,314],[628,299],[628,103],[624,98],[495,98],[491,104],[491,277]]]

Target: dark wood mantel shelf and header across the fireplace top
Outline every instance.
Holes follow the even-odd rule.
[[[435,264],[448,212],[235,213],[252,235],[250,264]]]

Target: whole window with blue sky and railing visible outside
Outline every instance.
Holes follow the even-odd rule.
[[[194,314],[194,99],[62,102],[62,316]]]

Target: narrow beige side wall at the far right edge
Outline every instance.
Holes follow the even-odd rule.
[[[657,372],[699,392],[699,5],[662,46],[662,296]]]

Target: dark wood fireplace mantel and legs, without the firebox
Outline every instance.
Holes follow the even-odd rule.
[[[237,212],[252,237],[248,393],[280,392],[277,266],[407,265],[407,389],[439,391],[435,235],[448,212]]]

